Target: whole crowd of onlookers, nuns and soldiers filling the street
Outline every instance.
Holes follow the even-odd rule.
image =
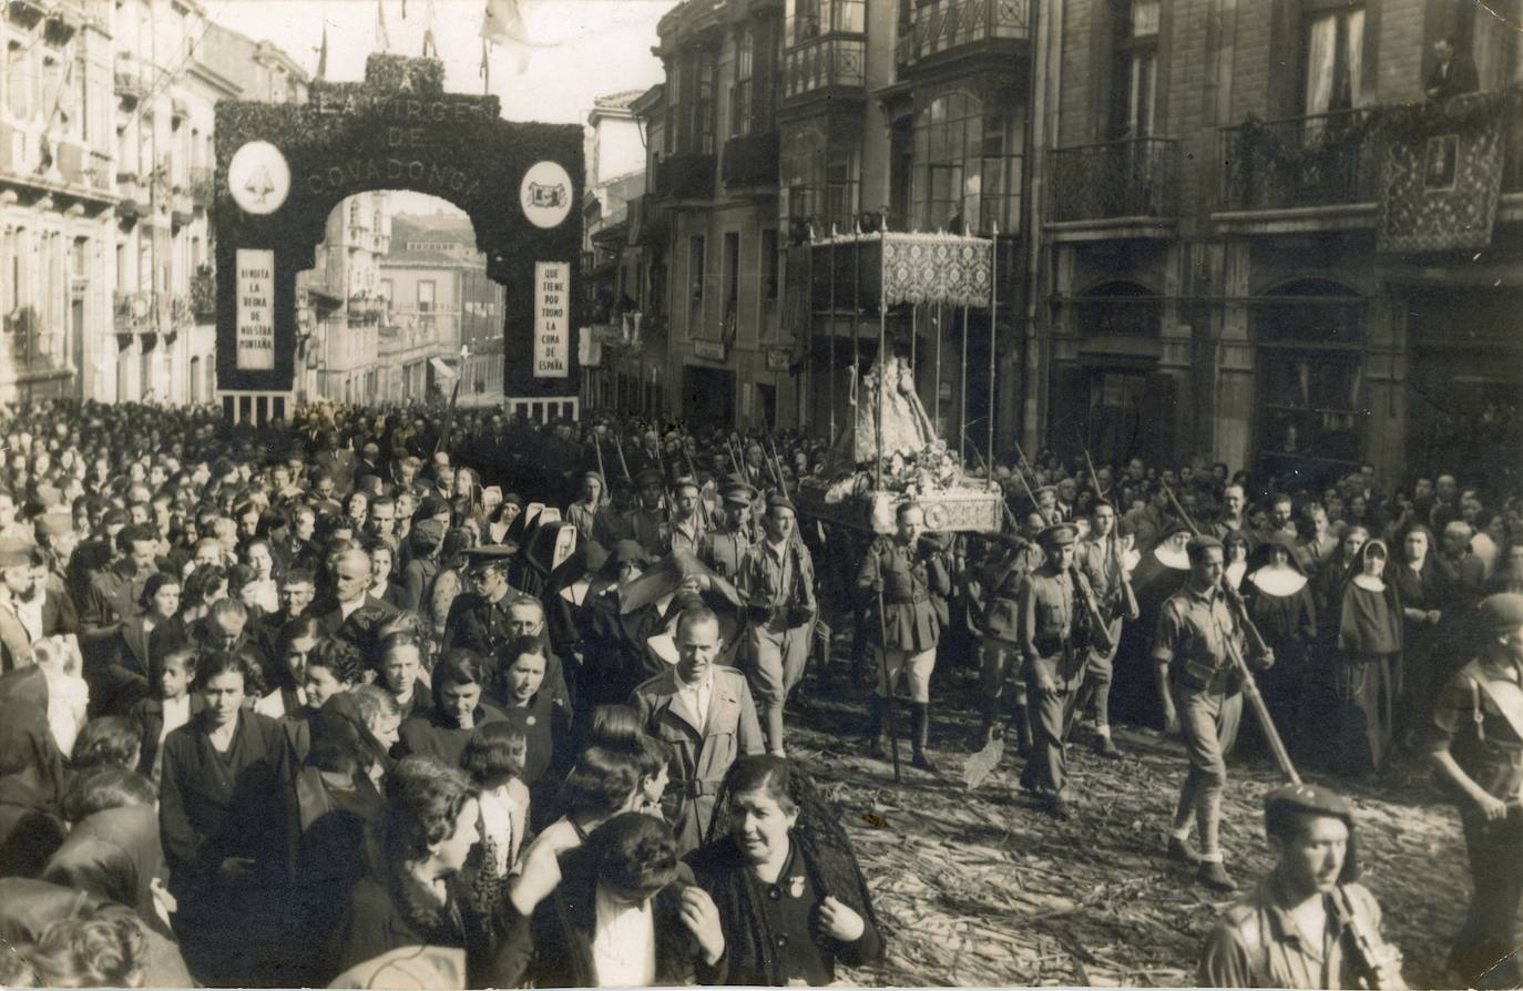
[[[842,684],[896,770],[908,729],[941,773],[934,694],[976,711],[959,749],[1013,741],[1058,819],[1071,738],[1124,760],[1112,717],[1180,732],[1161,852],[1221,894],[1240,723],[1349,787],[1419,761],[1471,865],[1454,973],[1520,944],[1505,481],[1042,451],[985,473],[998,533],[906,498],[873,534],[801,515],[839,466],[797,432],[47,402],[0,437],[0,983],[830,983],[889,938],[789,757]],[[1270,796],[1279,863],[1202,980],[1400,980],[1355,825],[1330,789]]]

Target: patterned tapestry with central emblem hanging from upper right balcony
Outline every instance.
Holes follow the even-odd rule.
[[[1517,107],[1517,90],[1506,90],[1384,110],[1377,251],[1479,251],[1491,245],[1508,126]]]

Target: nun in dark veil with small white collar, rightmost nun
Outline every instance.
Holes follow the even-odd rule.
[[[1390,752],[1395,676],[1401,664],[1401,595],[1386,580],[1386,545],[1359,551],[1337,604],[1337,655],[1333,687],[1339,703],[1337,773],[1374,778]]]

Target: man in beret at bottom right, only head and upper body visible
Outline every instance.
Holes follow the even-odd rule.
[[[1401,951],[1380,935],[1380,904],[1355,884],[1348,799],[1287,784],[1264,799],[1275,869],[1206,936],[1203,988],[1404,988]]]

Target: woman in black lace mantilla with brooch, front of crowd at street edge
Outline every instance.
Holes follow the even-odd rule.
[[[809,778],[780,757],[743,757],[725,793],[730,834],[687,857],[719,907],[725,983],[819,986],[838,962],[882,958],[851,843]]]

